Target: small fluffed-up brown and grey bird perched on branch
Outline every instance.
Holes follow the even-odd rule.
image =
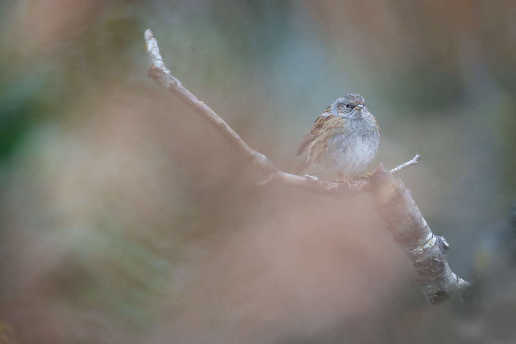
[[[348,177],[357,175],[373,161],[379,144],[380,126],[365,107],[364,97],[346,94],[315,120],[296,153],[299,157],[306,151],[307,157],[293,174],[314,164],[349,182]]]

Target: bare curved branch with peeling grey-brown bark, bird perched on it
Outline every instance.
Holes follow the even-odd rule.
[[[429,302],[461,294],[470,284],[451,272],[446,262],[448,243],[440,235],[433,235],[410,196],[410,190],[394,176],[409,166],[416,165],[421,156],[392,169],[385,170],[383,165],[375,173],[354,178],[349,183],[321,182],[317,177],[304,177],[281,172],[263,155],[253,151],[217,114],[200,102],[181,85],[165,67],[159,54],[157,41],[151,30],[145,32],[147,54],[151,67],[147,75],[159,85],[177,95],[193,111],[202,116],[247,160],[262,170],[267,178],[259,186],[280,184],[303,189],[313,193],[341,196],[371,191],[380,217],[387,223],[394,240],[405,251],[412,274],[420,285]]]

